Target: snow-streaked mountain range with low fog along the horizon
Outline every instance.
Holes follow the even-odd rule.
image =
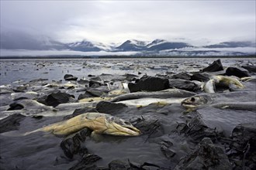
[[[26,49],[26,50],[67,50],[78,52],[137,52],[143,55],[211,55],[223,53],[224,55],[255,54],[255,42],[230,41],[220,42],[207,46],[192,46],[187,42],[171,42],[164,39],[155,39],[151,42],[137,39],[126,40],[119,45],[106,45],[101,42],[92,42],[86,39],[80,42],[62,43],[50,39],[47,36],[29,36],[19,33],[5,33],[1,35],[0,49]],[[251,48],[254,50],[240,51],[239,48]],[[228,53],[227,53],[228,52]]]

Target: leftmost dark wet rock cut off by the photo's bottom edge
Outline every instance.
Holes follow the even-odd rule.
[[[96,165],[94,165],[95,162],[99,161],[100,158],[98,155],[92,155],[92,154],[85,154],[81,161],[78,162],[77,165],[74,165],[72,168],[69,168],[69,170],[95,170],[98,169]]]

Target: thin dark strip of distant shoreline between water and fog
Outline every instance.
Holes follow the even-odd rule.
[[[0,59],[168,59],[168,58],[254,58],[256,55],[248,56],[0,56]]]

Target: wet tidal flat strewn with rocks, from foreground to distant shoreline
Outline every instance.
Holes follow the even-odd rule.
[[[254,58],[0,61],[2,169],[256,168]],[[213,103],[182,105],[201,94]],[[88,112],[122,118],[141,133],[26,135]]]

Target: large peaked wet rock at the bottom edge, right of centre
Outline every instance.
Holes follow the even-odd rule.
[[[195,151],[182,158],[175,170],[178,169],[232,169],[227,155],[218,145],[213,145],[210,138],[203,138]]]

